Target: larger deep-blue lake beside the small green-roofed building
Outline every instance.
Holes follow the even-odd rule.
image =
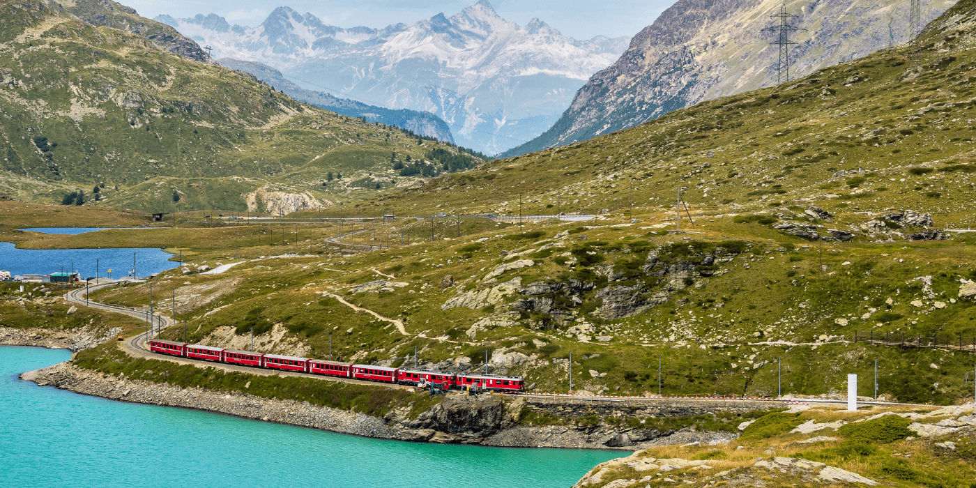
[[[61,266],[64,271],[70,271],[73,263],[74,270],[81,272],[82,278],[95,276],[96,266],[99,276],[106,276],[107,270],[111,269],[113,278],[121,278],[132,270],[133,253],[138,276],[172,269],[179,264],[168,261],[173,255],[158,248],[17,249],[14,244],[0,242],[0,269],[15,276],[50,274],[60,272]]]

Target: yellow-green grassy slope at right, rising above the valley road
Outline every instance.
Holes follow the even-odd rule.
[[[687,186],[692,208],[712,214],[817,203],[841,216],[911,208],[976,224],[969,8],[960,2],[910,45],[498,160],[386,205],[511,215],[521,194],[523,214],[553,213],[557,197],[564,212],[593,213],[629,209],[632,184],[633,204],[647,210],[673,209]],[[965,17],[946,23],[954,15]]]

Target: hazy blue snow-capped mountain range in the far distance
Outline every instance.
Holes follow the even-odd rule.
[[[389,108],[427,110],[455,140],[486,153],[527,142],[555,122],[590,75],[627,49],[627,37],[578,41],[542,20],[518,25],[488,0],[382,29],[327,25],[279,7],[257,27],[211,14],[159,16],[216,59],[257,61],[309,90]]]

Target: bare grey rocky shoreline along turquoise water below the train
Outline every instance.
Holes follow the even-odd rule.
[[[736,436],[730,432],[696,432],[693,429],[654,430],[641,436],[634,434],[633,429],[603,424],[523,426],[518,424],[518,415],[523,411],[525,399],[502,395],[467,399],[461,394],[452,394],[414,419],[408,416],[409,405],[379,418],[307,402],[110,376],[78,368],[69,362],[23,373],[20,378],[39,386],[55,386],[112,400],[191,408],[244,419],[414,442],[633,451],[655,445],[723,443]],[[418,399],[425,394],[418,392]],[[638,442],[621,442],[622,438],[633,438]]]

